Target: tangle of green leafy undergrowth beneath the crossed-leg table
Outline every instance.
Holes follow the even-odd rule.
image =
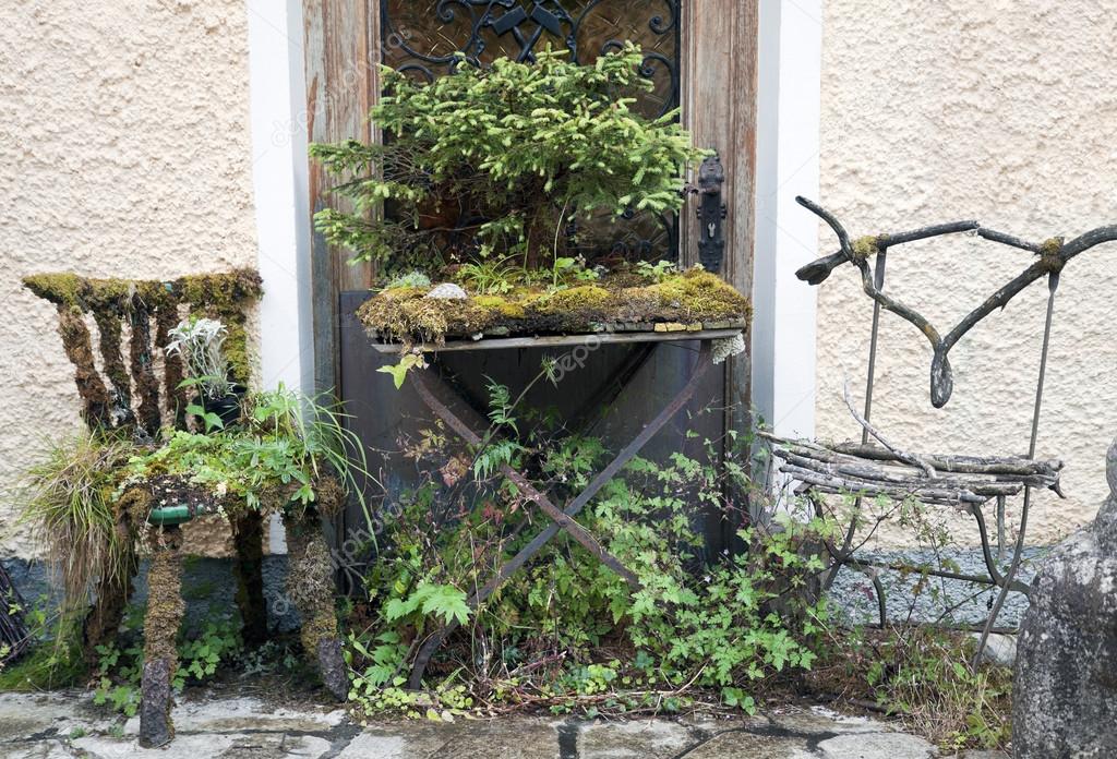
[[[447,486],[443,465],[404,493],[367,573],[372,621],[347,645],[351,696],[363,709],[452,717],[474,703],[596,715],[700,703],[753,712],[765,683],[813,666],[829,613],[811,589],[824,565],[809,546],[833,536],[821,520],[781,517],[738,530],[747,553],[705,556],[693,505],[736,520],[726,493],[752,492],[747,468],[720,460],[715,441],[693,440],[695,450],[667,462],[633,460],[580,515],[637,575],[638,592],[560,534],[486,604],[468,606],[467,592],[535,534],[524,529],[532,508],[517,508],[500,464],[535,471],[560,498],[584,488],[607,453],[600,440],[556,435],[547,414],[517,415],[518,398],[491,380],[488,395],[480,446],[455,453],[435,435],[422,446],[459,462],[457,471],[471,461],[474,482]],[[461,632],[428,669],[423,695],[400,692],[409,642],[451,621]]]

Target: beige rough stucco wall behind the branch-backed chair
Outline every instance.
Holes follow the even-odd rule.
[[[1117,2],[828,0],[824,8],[821,200],[852,236],[978,219],[1042,240],[1117,222]],[[829,233],[821,240],[820,250],[837,249]],[[958,237],[904,246],[889,256],[888,289],[945,333],[1029,259]],[[954,397],[943,411],[928,398],[928,343],[886,315],[873,421],[913,450],[1025,452],[1046,295],[1043,284],[1033,286],[952,352]],[[1117,246],[1067,267],[1039,453],[1067,462],[1068,500],[1041,496],[1032,540],[1056,540],[1092,519],[1107,492],[1115,304]],[[820,436],[859,436],[841,387],[849,377],[860,402],[871,310],[848,267],[820,289]]]

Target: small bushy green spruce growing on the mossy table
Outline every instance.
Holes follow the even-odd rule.
[[[685,169],[701,153],[676,113],[649,119],[630,108],[626,94],[651,87],[642,60],[626,45],[592,66],[555,51],[534,64],[462,63],[430,84],[383,69],[371,113],[383,144],[311,147],[345,179],[337,192],[352,208],[319,211],[318,230],[390,269],[490,254],[534,269],[577,244],[562,233],[571,220],[677,211]]]

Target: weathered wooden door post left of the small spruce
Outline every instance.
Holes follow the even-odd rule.
[[[380,92],[380,13],[376,0],[303,0],[307,135],[311,142],[373,137],[369,108]],[[316,213],[336,201],[334,181],[309,162],[309,205]],[[311,250],[314,375],[319,391],[338,376],[338,296],[372,282],[367,265],[350,266],[349,253],[315,232]]]

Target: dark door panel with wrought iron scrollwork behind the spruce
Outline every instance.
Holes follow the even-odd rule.
[[[432,80],[465,60],[484,66],[495,58],[534,61],[547,47],[592,64],[626,41],[643,50],[641,74],[652,83],[634,108],[661,116],[679,105],[682,0],[382,0],[383,60]],[[678,218],[626,214],[571,227],[586,258],[677,259]]]

